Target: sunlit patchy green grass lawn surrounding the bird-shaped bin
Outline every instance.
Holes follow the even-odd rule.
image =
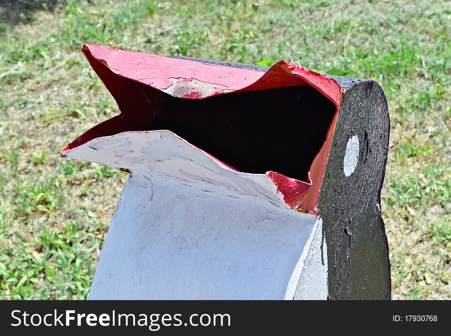
[[[259,65],[283,58],[374,78],[392,120],[382,213],[393,299],[451,299],[451,2],[21,6],[0,8],[0,299],[86,299],[126,181],[58,156],[118,114],[83,43]]]

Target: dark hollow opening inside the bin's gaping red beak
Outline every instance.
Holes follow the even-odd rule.
[[[248,173],[276,171],[306,181],[332,122],[335,105],[308,85],[177,98],[121,78],[109,86],[121,115],[69,145],[131,130],[166,129]]]

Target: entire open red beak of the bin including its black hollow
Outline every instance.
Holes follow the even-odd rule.
[[[121,113],[62,155],[101,136],[167,129],[229,167],[266,173],[287,204],[316,213],[342,94],[336,82],[284,61],[260,72],[98,45],[83,51]]]

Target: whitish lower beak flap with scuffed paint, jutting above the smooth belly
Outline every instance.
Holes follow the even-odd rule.
[[[68,150],[65,157],[126,168],[150,178],[175,180],[179,184],[229,197],[264,200],[294,211],[283,201],[265,174],[232,170],[171,131],[134,131],[98,137]]]

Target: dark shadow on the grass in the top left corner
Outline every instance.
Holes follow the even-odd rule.
[[[29,23],[38,10],[53,11],[63,0],[0,0],[0,23]]]

